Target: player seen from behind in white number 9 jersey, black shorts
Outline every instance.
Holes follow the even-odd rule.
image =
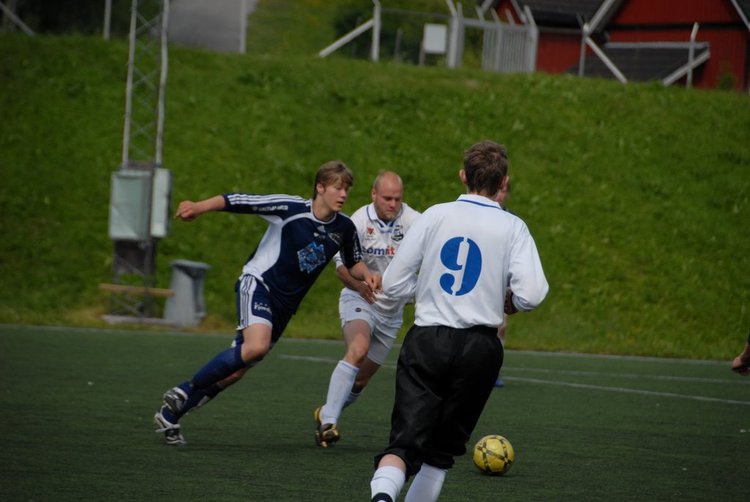
[[[383,274],[383,292],[416,294],[416,307],[398,359],[390,443],[375,457],[373,501],[395,501],[413,475],[406,502],[437,500],[502,366],[503,312],[532,310],[547,294],[526,224],[494,200],[507,173],[505,147],[482,141],[466,150],[459,177],[467,194],[422,213]]]

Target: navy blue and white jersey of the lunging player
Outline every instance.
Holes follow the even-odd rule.
[[[258,247],[242,268],[263,282],[275,302],[297,311],[326,264],[341,252],[344,265],[362,260],[357,229],[348,216],[334,213],[317,219],[312,200],[294,195],[224,194],[224,211],[255,214],[269,225]]]

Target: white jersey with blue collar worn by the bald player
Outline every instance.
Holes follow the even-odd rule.
[[[359,242],[362,247],[362,261],[372,272],[381,275],[396,255],[404,236],[409,232],[414,222],[421,213],[411,208],[406,203],[401,204],[401,211],[391,221],[383,221],[378,218],[375,204],[370,203],[357,209],[351,219],[357,227]],[[336,267],[342,265],[340,255],[336,258]],[[342,297],[347,295],[359,296],[359,293],[349,288],[344,288]],[[392,298],[382,292],[375,294],[377,301],[372,305],[373,310],[387,317],[401,314],[404,304],[410,298]]]

